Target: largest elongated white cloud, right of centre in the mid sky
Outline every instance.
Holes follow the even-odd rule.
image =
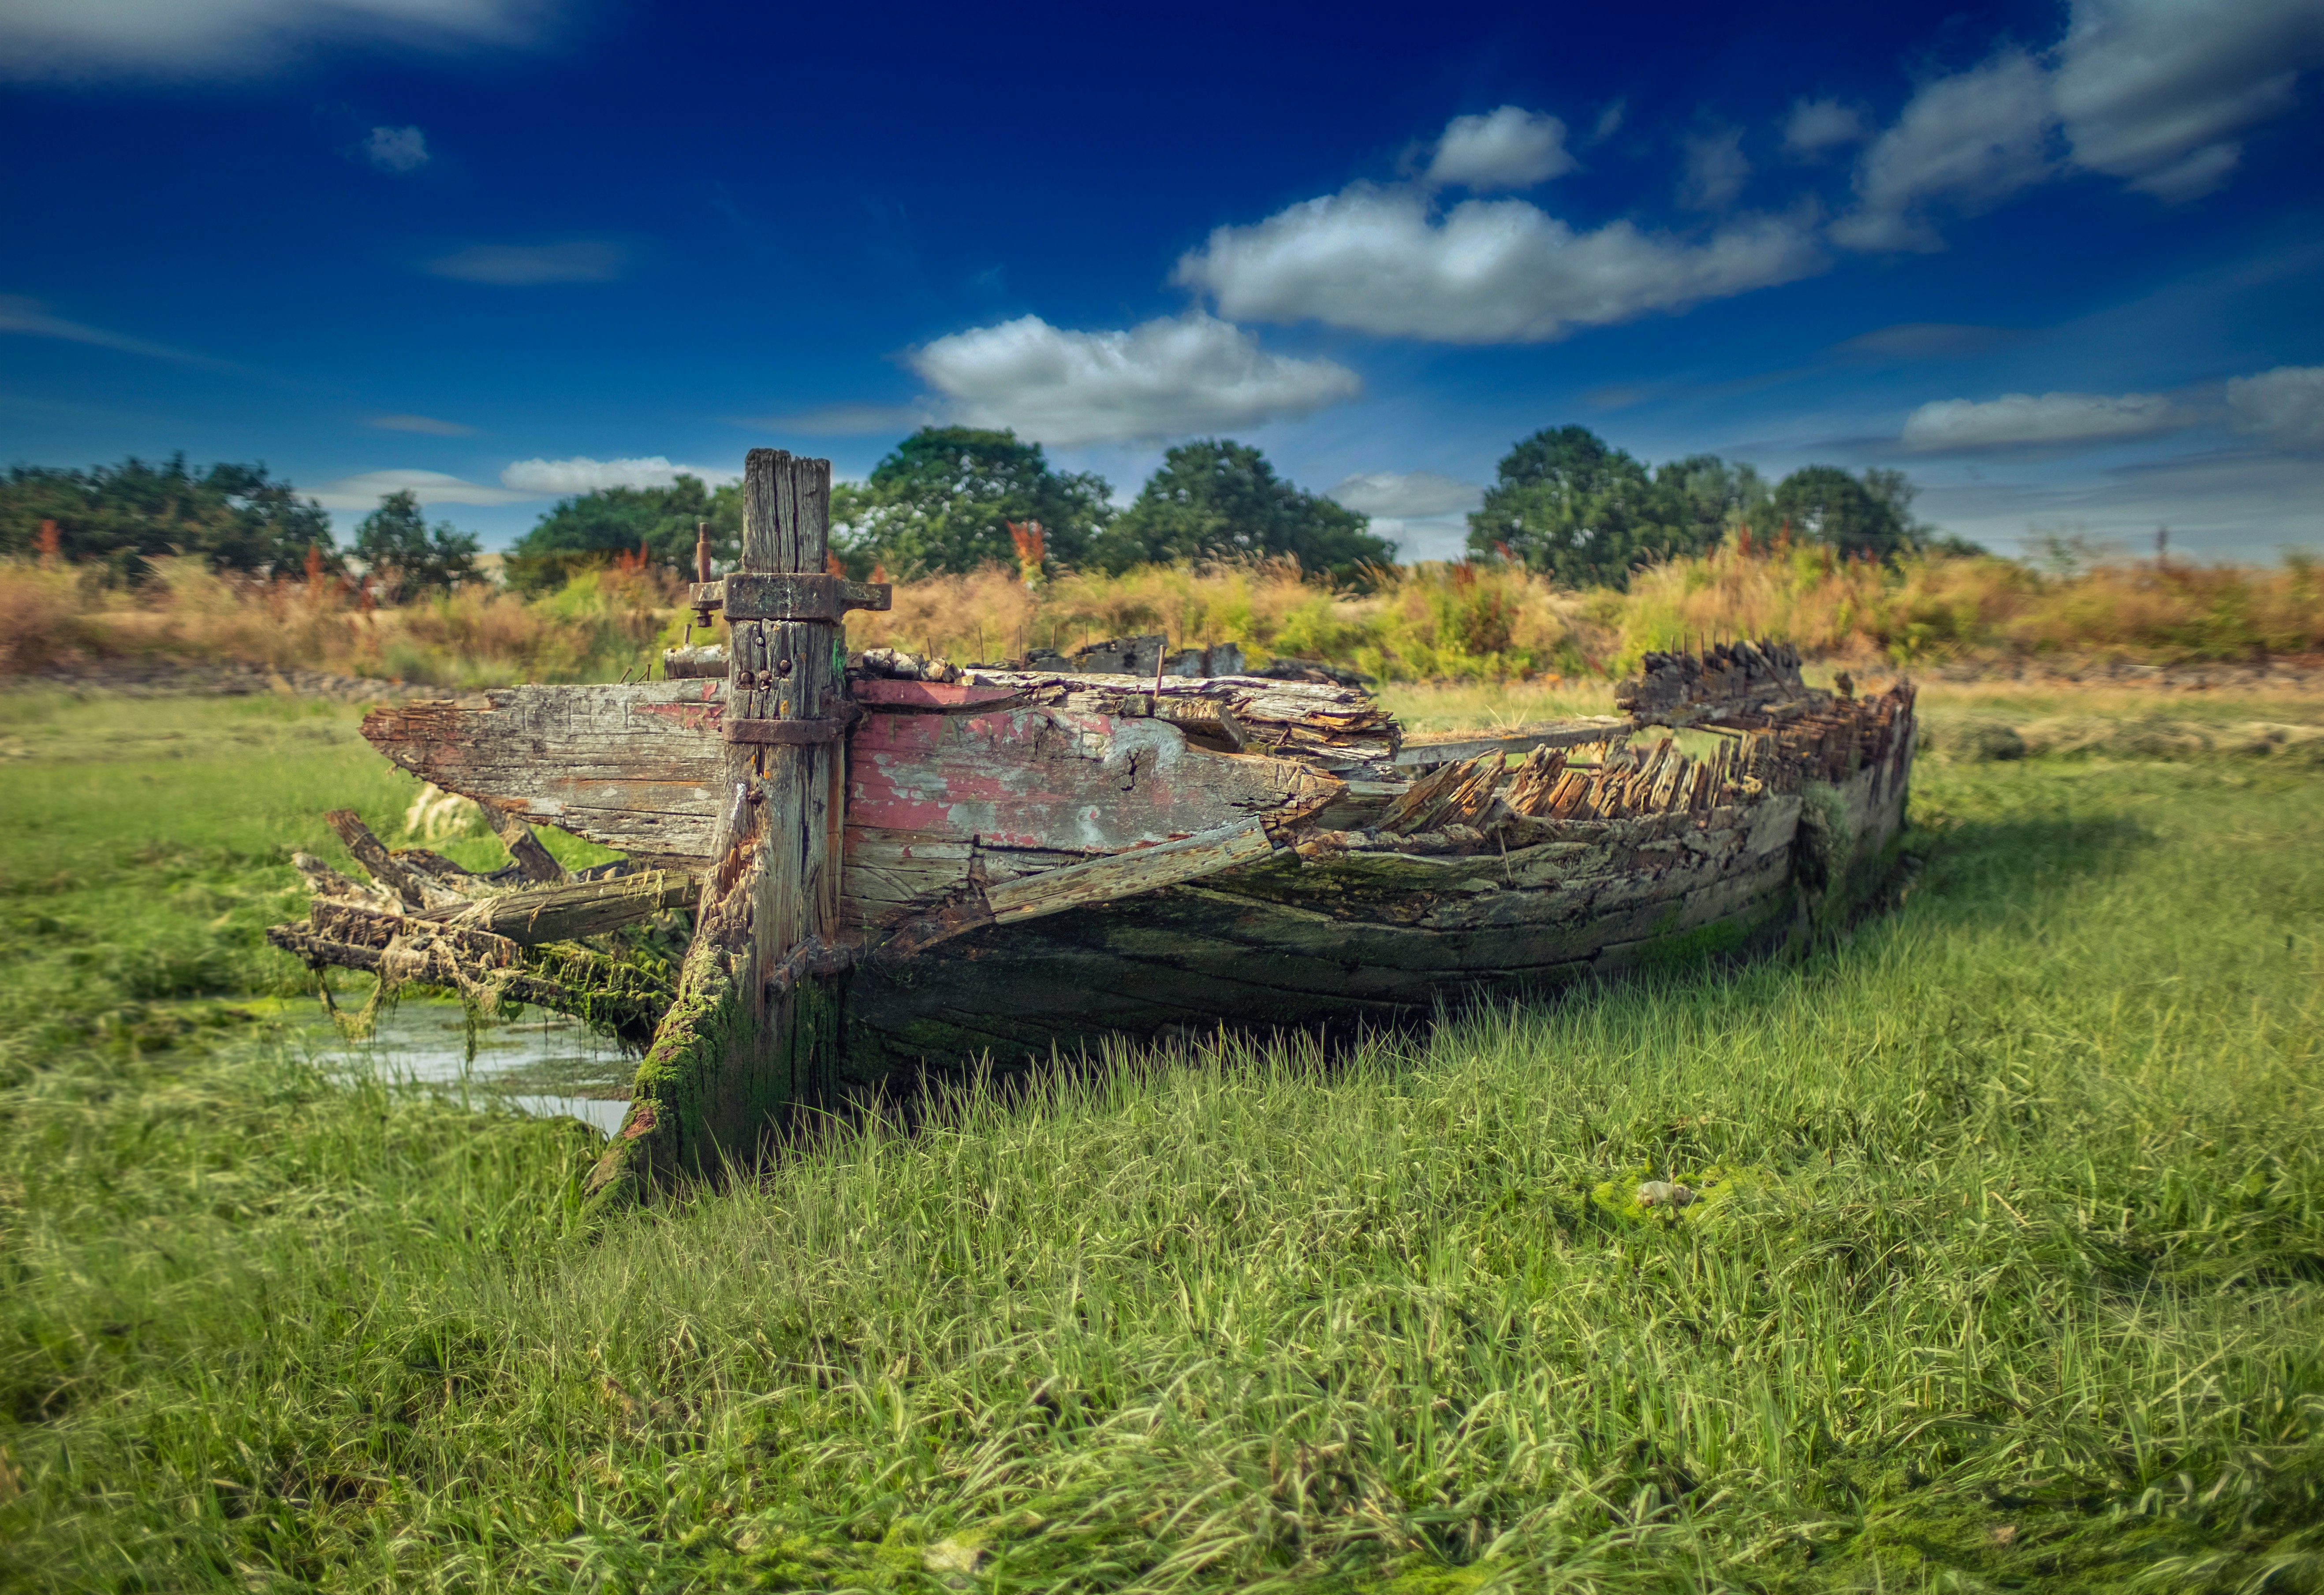
[[[1613,221],[1576,233],[1525,200],[1464,200],[1443,219],[1413,188],[1355,184],[1178,260],[1236,321],[1327,321],[1383,337],[1508,344],[1564,337],[1820,272],[1810,233],[1773,216],[1690,244]]]

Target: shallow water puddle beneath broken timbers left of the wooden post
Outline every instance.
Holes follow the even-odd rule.
[[[325,1018],[316,1051],[337,1056],[381,1079],[465,1086],[525,1114],[569,1114],[602,1135],[621,1128],[630,1109],[627,1056],[576,1018],[523,1009],[516,1018],[476,1028],[476,1060],[467,1056],[467,1014],[458,1002],[404,1000],[379,1016],[367,1042],[349,1042]]]

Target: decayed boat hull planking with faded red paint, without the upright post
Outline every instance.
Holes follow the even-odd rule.
[[[1404,1023],[1776,942],[1864,888],[1903,823],[1908,686],[1831,700],[1796,656],[1741,649],[1650,656],[1624,693],[1624,718],[1432,751],[1336,686],[855,679],[834,942],[799,944],[769,990],[841,981],[823,1086],[862,1088],[1111,1035]],[[725,709],[716,679],[507,688],[381,709],[365,735],[504,816],[700,872],[744,818]],[[1724,742],[1641,751],[1650,725]],[[332,911],[281,944],[318,956]],[[418,923],[449,914],[407,942],[472,956]],[[732,932],[711,911],[695,953]],[[541,963],[493,935],[474,946],[495,967]]]

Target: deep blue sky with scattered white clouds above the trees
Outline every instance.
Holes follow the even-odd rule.
[[[2324,0],[1515,12],[0,0],[0,463],[500,546],[758,444],[1232,435],[1441,556],[1580,421],[2324,544]]]

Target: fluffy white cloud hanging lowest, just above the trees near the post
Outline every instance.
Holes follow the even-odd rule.
[[[1346,365],[1267,353],[1243,328],[1202,312],[1127,332],[1069,332],[1020,316],[939,337],[911,353],[911,367],[967,425],[1062,446],[1292,421],[1364,391]]]

